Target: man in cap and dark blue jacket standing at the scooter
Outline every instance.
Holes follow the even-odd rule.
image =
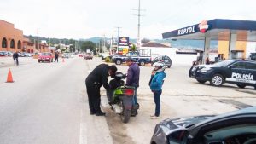
[[[129,66],[129,68],[127,71],[127,78],[126,78],[125,85],[135,87],[135,94],[134,94],[134,98],[133,98],[133,106],[132,107],[137,107],[137,108],[136,108],[136,111],[131,112],[131,116],[136,116],[137,109],[139,107],[139,104],[137,102],[137,88],[139,87],[140,67],[137,66],[137,63],[131,57],[128,57],[126,59],[126,64]]]

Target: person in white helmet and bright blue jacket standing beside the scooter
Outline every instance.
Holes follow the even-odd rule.
[[[162,94],[162,85],[166,78],[166,66],[161,62],[154,63],[154,70],[149,81],[150,89],[154,94],[155,112],[150,117],[152,119],[160,118],[160,95]]]

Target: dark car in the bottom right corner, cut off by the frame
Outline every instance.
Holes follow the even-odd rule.
[[[151,144],[255,144],[256,107],[217,116],[166,119],[156,124]]]

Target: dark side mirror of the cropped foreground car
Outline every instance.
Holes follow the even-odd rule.
[[[174,130],[167,135],[168,144],[184,144],[188,141],[189,131],[184,129]]]

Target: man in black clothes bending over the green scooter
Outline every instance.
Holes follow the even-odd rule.
[[[90,114],[96,114],[96,116],[104,116],[105,113],[101,110],[101,94],[100,89],[103,85],[105,89],[109,89],[108,76],[113,77],[117,71],[116,66],[108,66],[107,64],[100,64],[90,72],[85,79]]]

